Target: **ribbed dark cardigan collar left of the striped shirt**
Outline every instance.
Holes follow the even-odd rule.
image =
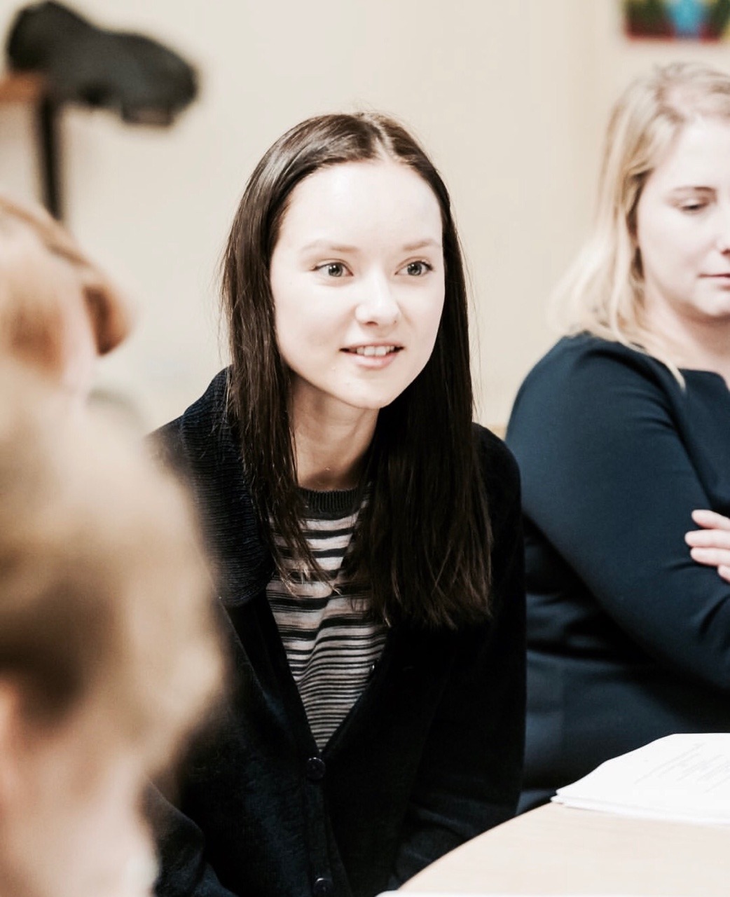
[[[274,561],[264,544],[248,491],[243,458],[227,404],[228,369],[183,414],[180,434],[205,532],[218,562],[221,600],[246,604],[266,587]]]

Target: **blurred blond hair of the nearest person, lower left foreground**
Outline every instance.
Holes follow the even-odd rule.
[[[126,434],[0,365],[0,678],[53,725],[101,707],[156,770],[222,679],[187,493]]]

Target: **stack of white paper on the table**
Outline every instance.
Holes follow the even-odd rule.
[[[625,816],[730,824],[730,733],[660,738],[602,763],[552,799]]]

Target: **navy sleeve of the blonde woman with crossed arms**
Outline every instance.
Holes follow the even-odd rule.
[[[678,431],[674,385],[652,365],[609,344],[538,366],[508,444],[526,518],[604,612],[657,662],[728,692],[730,584],[684,542],[708,495]]]

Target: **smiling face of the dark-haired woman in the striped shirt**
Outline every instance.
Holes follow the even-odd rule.
[[[295,408],[391,403],[430,358],[444,304],[439,202],[406,165],[345,162],[293,191],[271,261]]]

